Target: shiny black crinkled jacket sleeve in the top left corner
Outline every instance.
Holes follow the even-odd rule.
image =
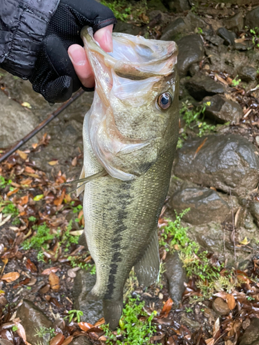
[[[0,0],[0,67],[28,79],[59,0]]]

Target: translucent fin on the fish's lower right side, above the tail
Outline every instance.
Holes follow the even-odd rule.
[[[160,269],[157,229],[142,258],[134,266],[139,284],[150,286],[157,282]]]

